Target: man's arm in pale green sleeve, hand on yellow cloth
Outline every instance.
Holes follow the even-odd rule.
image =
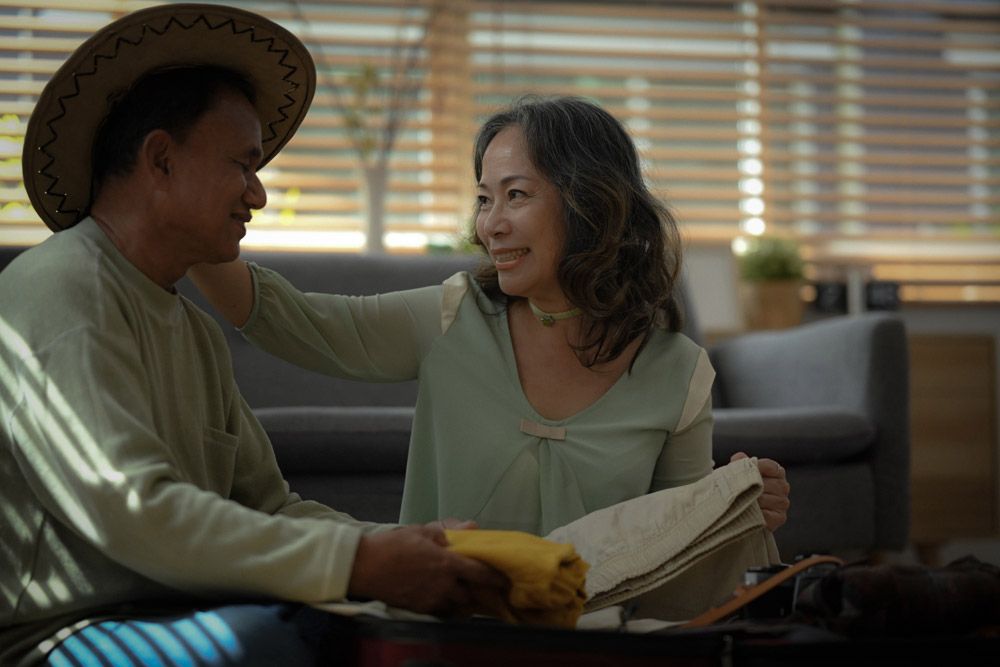
[[[86,386],[77,388],[60,383],[62,373],[45,374],[45,366],[55,370],[51,364],[39,367],[39,380],[58,384],[68,400],[22,400],[11,415],[21,474],[89,549],[177,589],[303,602],[353,595],[451,613],[477,586],[503,586],[486,566],[448,551],[438,529],[363,534],[356,523],[268,514],[224,497],[224,489],[199,488],[182,472],[177,457],[184,455],[168,456],[167,444],[142,425],[142,400],[126,370],[140,364],[130,356],[109,356],[100,372],[84,369]],[[54,404],[66,411],[54,413]],[[84,413],[100,418],[79,421]],[[221,444],[204,454],[224,455]]]

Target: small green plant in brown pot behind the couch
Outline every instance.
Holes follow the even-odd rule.
[[[802,258],[794,240],[750,238],[737,263],[747,328],[785,329],[802,321]]]

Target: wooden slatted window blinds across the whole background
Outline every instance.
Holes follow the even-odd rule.
[[[149,4],[0,0],[0,242],[48,233],[20,174],[44,81]],[[478,123],[526,93],[573,94],[625,122],[689,243],[790,236],[813,279],[862,272],[906,301],[1000,301],[994,0],[241,6],[298,34],[319,70],[309,116],[262,173],[269,204],[248,245],[362,249],[370,183],[386,193],[390,251],[454,245]]]

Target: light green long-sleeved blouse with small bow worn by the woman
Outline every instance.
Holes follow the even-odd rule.
[[[304,294],[252,266],[249,340],[342,378],[419,379],[401,521],[475,519],[547,534],[712,469],[705,351],[657,330],[631,373],[577,414],[540,416],[517,374],[506,311],[466,273],[378,296]]]

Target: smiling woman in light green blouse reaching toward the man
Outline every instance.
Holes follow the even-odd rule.
[[[277,356],[419,378],[403,523],[461,516],[544,535],[707,475],[714,371],[679,333],[676,223],[624,128],[579,99],[524,100],[482,126],[475,172],[489,260],[475,276],[373,297],[303,294],[243,263],[192,277]],[[759,465],[774,530],[788,485],[777,463]]]

